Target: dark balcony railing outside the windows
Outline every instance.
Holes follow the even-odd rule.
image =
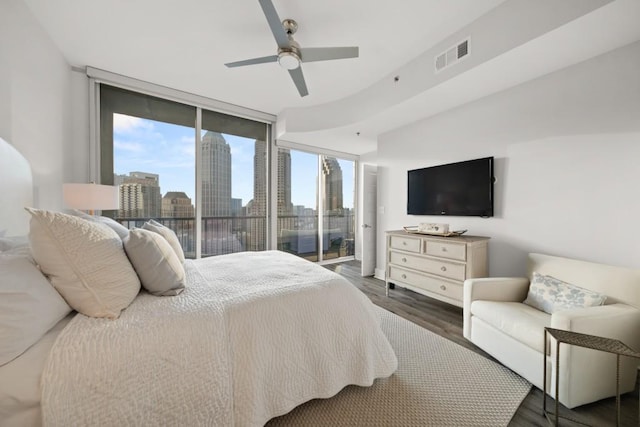
[[[116,218],[129,229],[142,227],[150,218]],[[196,256],[195,218],[153,218],[175,231],[187,258]],[[355,218],[352,213],[325,215],[323,258],[352,256],[355,253]],[[318,260],[318,216],[279,216],[278,249],[303,258]],[[202,218],[203,257],[244,251],[262,251],[266,245],[267,219],[256,216]]]

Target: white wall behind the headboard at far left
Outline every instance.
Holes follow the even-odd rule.
[[[35,205],[59,209],[71,68],[20,0],[0,2],[0,137],[31,163]]]

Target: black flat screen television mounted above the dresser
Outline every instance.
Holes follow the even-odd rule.
[[[493,216],[493,157],[407,172],[408,215]]]

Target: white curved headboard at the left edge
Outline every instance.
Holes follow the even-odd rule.
[[[0,237],[26,236],[33,206],[31,166],[13,145],[0,138]]]

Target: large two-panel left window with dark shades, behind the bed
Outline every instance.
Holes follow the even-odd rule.
[[[100,85],[100,175],[120,186],[116,219],[163,223],[188,257],[267,248],[268,141],[265,123]]]

